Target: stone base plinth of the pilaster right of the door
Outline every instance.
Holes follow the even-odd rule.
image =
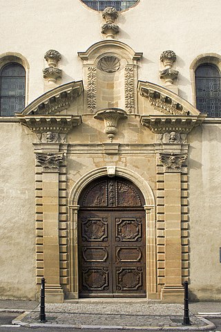
[[[164,286],[161,291],[161,301],[162,303],[183,303],[183,286]]]

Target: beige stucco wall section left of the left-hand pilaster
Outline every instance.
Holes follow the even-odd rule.
[[[0,122],[0,298],[35,299],[35,159],[21,124]]]

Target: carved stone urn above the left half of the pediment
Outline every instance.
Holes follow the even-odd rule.
[[[61,54],[57,50],[48,50],[44,58],[48,62],[49,67],[44,68],[43,77],[48,79],[48,82],[55,83],[62,76],[61,69],[57,68],[57,62],[61,59]]]

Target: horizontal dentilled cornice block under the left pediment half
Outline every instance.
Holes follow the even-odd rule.
[[[81,124],[81,116],[26,116],[17,115],[18,120],[34,133],[68,133]]]

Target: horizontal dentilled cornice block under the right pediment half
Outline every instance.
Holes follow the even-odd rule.
[[[140,122],[154,133],[166,133],[168,131],[189,133],[193,127],[202,124],[205,117],[206,114],[200,113],[198,116],[141,116]]]

